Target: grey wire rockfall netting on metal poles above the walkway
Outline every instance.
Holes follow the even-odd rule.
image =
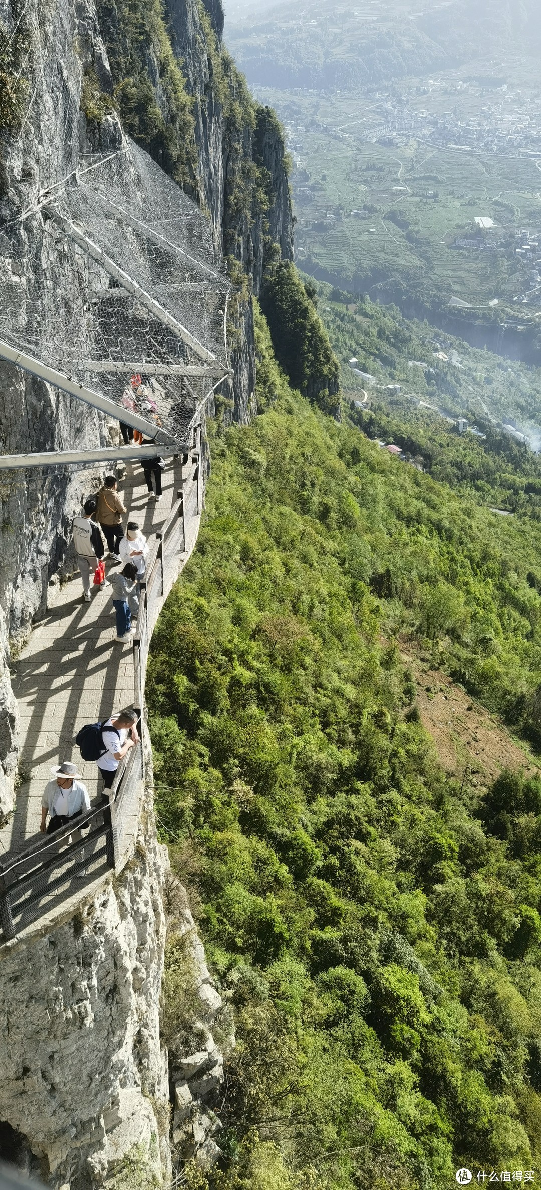
[[[130,142],[0,231],[0,339],[176,440],[228,370],[228,293],[207,218]]]

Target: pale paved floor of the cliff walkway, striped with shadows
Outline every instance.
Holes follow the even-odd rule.
[[[163,499],[147,499],[143,469],[127,464],[119,484],[130,516],[137,520],[152,549],[153,534],[171,511],[180,478],[180,462],[169,463],[162,476]],[[106,562],[106,574],[118,569]],[[20,851],[39,831],[43,788],[50,769],[74,760],[82,772],[90,800],[97,794],[96,765],[83,762],[74,737],[83,724],[106,719],[111,712],[133,702],[133,645],[114,641],[115,616],[111,587],[92,589],[90,603],[82,602],[78,571],[61,587],[54,606],[34,626],[30,640],[14,663],[13,691],[20,715],[20,772],[15,810],[0,831],[0,854]],[[100,781],[101,785],[101,781]]]

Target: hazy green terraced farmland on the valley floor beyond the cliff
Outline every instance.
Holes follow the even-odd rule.
[[[516,314],[528,273],[512,232],[541,226],[541,162],[366,143],[366,101],[351,95],[265,100],[278,106],[294,150],[302,144],[292,174],[301,267],[372,296],[405,289],[428,305],[458,298],[480,309],[498,299]],[[496,225],[493,249],[455,248],[479,215]]]

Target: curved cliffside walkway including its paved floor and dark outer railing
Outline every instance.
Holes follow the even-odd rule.
[[[82,762],[74,738],[83,724],[136,706],[144,713],[149,645],[163,602],[199,532],[203,499],[201,427],[195,450],[163,472],[163,499],[147,499],[143,469],[128,464],[122,500],[151,547],[133,645],[115,643],[111,588],[82,602],[78,572],[61,587],[54,607],[33,628],[14,668],[20,715],[21,784],[12,818],[0,831],[0,947],[73,913],[81,896],[119,872],[133,854],[144,788],[143,744],[119,766],[113,789],[99,794],[96,765]],[[111,564],[107,564],[107,570]],[[90,794],[78,829],[39,834],[40,803],[50,769],[76,760]],[[11,944],[13,945],[13,942]]]

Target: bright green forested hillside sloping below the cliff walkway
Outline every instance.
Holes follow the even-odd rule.
[[[401,645],[537,745],[541,528],[309,406],[260,317],[257,342],[266,412],[209,427],[147,681],[162,838],[235,1015],[224,1184],[539,1170],[541,779],[446,776]]]

